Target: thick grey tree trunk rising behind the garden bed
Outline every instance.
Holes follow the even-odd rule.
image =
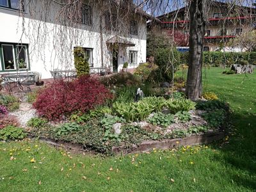
[[[198,100],[202,95],[203,40],[205,33],[205,12],[207,0],[191,0],[189,7],[189,67],[186,95]]]

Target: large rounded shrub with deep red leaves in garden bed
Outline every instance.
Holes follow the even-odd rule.
[[[57,81],[38,93],[33,106],[38,115],[61,120],[75,111],[86,112],[111,99],[112,95],[97,79],[82,76],[72,82]]]

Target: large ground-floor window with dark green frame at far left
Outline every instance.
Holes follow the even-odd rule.
[[[29,69],[28,45],[0,42],[1,71]]]

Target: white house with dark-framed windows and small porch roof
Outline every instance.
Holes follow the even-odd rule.
[[[0,75],[31,71],[51,78],[51,70],[74,68],[74,47],[84,47],[94,68],[120,71],[125,62],[132,69],[146,61],[148,15],[132,10],[132,1],[111,7],[83,1],[79,11],[61,2],[0,0]]]

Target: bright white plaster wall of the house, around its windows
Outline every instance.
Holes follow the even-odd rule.
[[[33,0],[36,1],[36,0]],[[55,4],[56,6],[56,4]],[[53,6],[52,6],[53,7]],[[41,7],[42,8],[42,7]],[[40,12],[40,1],[36,4],[35,13]],[[56,9],[58,7],[56,6]],[[0,8],[0,42],[29,44],[29,63],[31,71],[40,72],[42,79],[51,78],[50,70],[54,68],[74,68],[73,47],[81,46],[93,49],[93,67],[101,67],[101,49],[99,22],[97,7],[93,7],[93,26],[79,26],[79,28],[67,28],[54,24],[56,9],[52,8],[47,22],[43,22],[33,16],[31,19],[28,10],[25,10],[24,18],[19,13]],[[39,13],[38,13],[39,14]],[[42,27],[43,26],[43,27]],[[24,30],[22,28],[24,27]],[[40,29],[40,35],[38,34]],[[63,32],[65,31],[65,32]],[[69,35],[74,33],[73,35]],[[60,35],[58,35],[60,34]],[[65,35],[63,35],[65,34]],[[103,35],[103,58],[104,66],[112,65],[112,52],[106,41],[115,36],[115,32],[105,31]],[[76,38],[73,38],[76,36]],[[129,50],[138,51],[138,63],[146,61],[146,20],[139,21],[138,36],[128,35],[122,37],[135,44],[135,47],[120,47],[118,70],[122,69],[123,63],[128,61]],[[122,56],[122,58],[120,58]],[[129,68],[138,65],[129,65]],[[5,73],[5,72],[4,72]],[[0,72],[1,74],[1,72]]]

